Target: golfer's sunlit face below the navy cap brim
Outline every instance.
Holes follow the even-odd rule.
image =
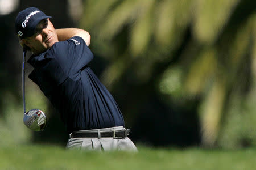
[[[45,52],[55,42],[58,42],[58,37],[49,19],[43,19],[36,26],[35,34],[24,39],[24,43],[34,54]]]

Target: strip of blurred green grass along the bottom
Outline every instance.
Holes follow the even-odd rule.
[[[138,153],[65,150],[60,146],[0,146],[0,169],[255,169],[256,148],[138,147]]]

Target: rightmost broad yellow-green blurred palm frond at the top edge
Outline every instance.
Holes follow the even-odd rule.
[[[240,0],[196,0],[193,32],[197,40],[210,44],[216,40]]]

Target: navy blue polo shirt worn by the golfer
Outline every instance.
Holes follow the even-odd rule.
[[[59,111],[68,133],[124,126],[122,113],[106,87],[88,67],[93,54],[81,37],[56,42],[28,59],[28,76]]]

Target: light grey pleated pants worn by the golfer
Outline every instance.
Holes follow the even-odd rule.
[[[82,131],[112,131],[125,129],[123,126],[104,128],[104,129],[93,129],[93,130],[82,130]],[[110,138],[70,138],[67,143],[67,148],[77,148],[82,150],[131,150],[138,151],[134,143],[128,138],[114,139]]]

